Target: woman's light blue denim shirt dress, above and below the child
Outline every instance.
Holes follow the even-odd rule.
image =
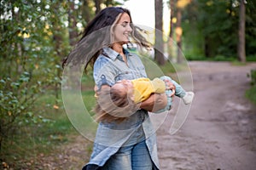
[[[125,51],[125,55],[127,65],[122,57],[113,49],[103,48],[102,54],[96,59],[93,71],[93,77],[98,88],[101,88],[103,84],[112,86],[115,82],[122,79],[131,80],[147,77],[144,65],[137,54]],[[150,122],[148,111],[138,110],[127,117],[124,122],[100,122],[90,161],[84,169],[90,169],[91,167],[92,169],[101,169],[99,167],[104,166],[107,161],[108,165],[113,164],[111,163],[111,157],[119,156],[127,147],[134,148],[134,150],[131,151],[131,157],[128,156],[125,159],[138,159],[138,156],[133,154],[133,151],[136,153],[136,148],[140,148],[137,144],[141,144],[143,141],[145,141],[149,156],[154,162],[151,168],[159,169],[155,130]],[[136,161],[136,163],[134,161],[132,164],[141,163],[141,166],[144,165],[143,161]],[[124,163],[124,165],[128,164]]]

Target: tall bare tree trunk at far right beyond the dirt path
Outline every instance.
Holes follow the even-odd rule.
[[[238,60],[242,63],[246,62],[245,50],[245,0],[240,0],[239,8],[239,30],[238,30]]]

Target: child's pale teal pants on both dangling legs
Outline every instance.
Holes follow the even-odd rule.
[[[171,77],[160,77],[161,80],[170,80],[176,87],[176,90],[175,90],[175,95],[179,98],[183,98],[184,95],[186,94],[185,90],[183,89],[183,87],[181,85],[179,85],[177,82],[175,82],[174,80],[172,80]],[[163,111],[169,111],[171,110],[171,107],[172,107],[172,97],[171,97],[171,94],[172,94],[172,90],[166,90],[166,95],[167,95],[167,105],[164,109],[161,109],[159,111],[155,111],[154,113],[161,113]]]

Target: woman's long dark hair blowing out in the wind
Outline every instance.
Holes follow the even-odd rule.
[[[102,53],[102,48],[109,47],[111,43],[110,28],[117,22],[119,14],[126,13],[130,16],[131,13],[126,8],[108,7],[102,9],[96,17],[88,23],[84,29],[83,37],[79,40],[72,52],[63,60],[62,66],[73,63],[73,65],[84,65],[86,70],[89,63],[92,65],[96,61],[99,54]],[[148,42],[142,35],[142,29],[132,25],[131,20],[131,38],[137,45],[150,48],[151,43]]]

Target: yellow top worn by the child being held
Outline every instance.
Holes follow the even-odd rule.
[[[152,81],[149,78],[137,78],[131,80],[131,82],[134,88],[133,97],[136,104],[148,99],[151,94],[166,92],[166,84],[160,78],[154,78]]]

